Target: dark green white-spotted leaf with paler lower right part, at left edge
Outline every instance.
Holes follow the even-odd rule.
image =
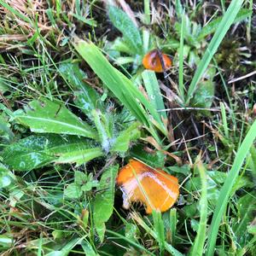
[[[30,171],[50,162],[78,165],[102,155],[88,139],[54,134],[35,135],[4,148],[3,163],[16,171]]]

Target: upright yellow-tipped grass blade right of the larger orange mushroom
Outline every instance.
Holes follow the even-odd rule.
[[[200,223],[190,255],[203,255],[207,237],[207,174],[201,160],[196,165],[201,177]]]

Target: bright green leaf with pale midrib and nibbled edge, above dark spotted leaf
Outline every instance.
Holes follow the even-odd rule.
[[[96,138],[96,131],[90,125],[81,121],[62,103],[50,102],[47,99],[30,102],[24,111],[15,113],[15,119],[34,132]]]

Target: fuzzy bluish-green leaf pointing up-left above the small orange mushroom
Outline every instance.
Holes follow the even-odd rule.
[[[143,55],[143,40],[141,34],[130,17],[113,5],[109,6],[108,15],[113,26],[122,32],[125,42],[129,44],[134,54]]]

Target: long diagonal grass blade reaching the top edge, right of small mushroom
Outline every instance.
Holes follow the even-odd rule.
[[[214,33],[211,43],[208,45],[208,48],[205,54],[203,55],[199,63],[199,66],[195,71],[195,75],[192,79],[191,84],[189,85],[188,95],[186,97],[186,105],[189,104],[189,100],[191,99],[191,97],[195,92],[196,85],[201,80],[203,73],[206,71],[207,66],[212,60],[212,56],[217,51],[218,46],[222,42],[226,32],[228,32],[231,24],[236,19],[236,15],[241,9],[242,3],[243,3],[243,0],[232,0],[232,2],[230,3],[229,9],[227,9],[226,13],[224,14],[224,17],[221,20],[217,31]]]

